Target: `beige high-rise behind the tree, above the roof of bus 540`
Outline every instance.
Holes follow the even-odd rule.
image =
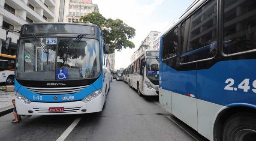
[[[90,12],[99,12],[91,0],[58,0],[55,22],[78,22]]]

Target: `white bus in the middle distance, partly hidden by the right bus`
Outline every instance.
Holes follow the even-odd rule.
[[[158,96],[159,50],[142,52],[127,68],[127,82],[139,96]]]

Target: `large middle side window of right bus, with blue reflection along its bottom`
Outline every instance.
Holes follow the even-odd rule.
[[[216,40],[217,0],[211,0],[181,25],[181,63],[214,57]]]

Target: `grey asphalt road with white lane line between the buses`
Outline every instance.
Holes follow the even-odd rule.
[[[22,117],[18,124],[10,113],[0,117],[0,141],[193,141],[157,103],[158,96],[139,97],[114,80],[102,112]]]

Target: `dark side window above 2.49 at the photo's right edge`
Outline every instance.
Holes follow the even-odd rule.
[[[230,7],[229,0],[224,0],[224,25],[229,25],[223,28],[224,53],[256,49],[256,14],[253,12],[256,10],[256,0],[244,0],[232,9]]]

